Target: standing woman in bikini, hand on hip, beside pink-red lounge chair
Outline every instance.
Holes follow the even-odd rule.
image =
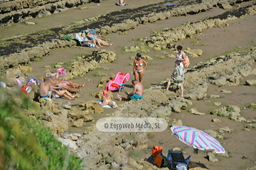
[[[144,75],[144,69],[146,69],[146,61],[142,59],[142,55],[141,53],[137,53],[137,59],[134,60],[134,65],[133,65],[133,74],[134,74],[134,79],[136,79],[138,81],[139,78],[139,82],[142,83],[142,77]],[[143,63],[145,64],[145,66],[143,67]]]

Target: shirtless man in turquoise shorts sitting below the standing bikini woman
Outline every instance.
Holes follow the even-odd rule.
[[[127,91],[124,91],[124,94],[127,94],[127,96],[120,96],[119,94],[117,94],[117,98],[119,99],[119,101],[129,101],[132,99],[139,100],[139,99],[143,98],[144,88],[143,88],[142,83],[133,79],[132,84],[134,85],[134,89],[133,89],[132,93],[128,93]]]

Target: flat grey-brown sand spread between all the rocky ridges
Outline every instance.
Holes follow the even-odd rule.
[[[37,33],[39,31],[48,30],[50,28],[68,26],[70,23],[75,23],[85,18],[105,15],[113,11],[121,11],[122,9],[139,8],[141,6],[157,4],[163,1],[129,0],[127,1],[129,3],[128,6],[115,6],[115,2],[116,1],[114,0],[108,0],[101,1],[100,3],[89,3],[78,6],[78,8],[86,6],[87,9],[85,10],[71,8],[68,11],[64,11],[62,13],[55,13],[53,15],[44,16],[42,18],[34,18],[31,20],[31,22],[35,22],[36,25],[31,26],[31,28],[28,28],[29,26],[26,26],[23,23],[15,23],[12,26],[0,28],[0,38],[1,40],[5,40],[8,38],[16,37],[17,35]],[[139,43],[139,40],[137,39],[149,38],[151,35],[154,35],[154,33],[159,30],[164,30],[166,28],[177,28],[178,26],[182,26],[186,23],[201,22],[203,21],[203,19],[206,19],[208,17],[218,16],[222,13],[225,13],[226,11],[235,11],[244,6],[252,6],[252,4],[255,5],[255,3],[256,1],[245,1],[230,6],[230,9],[223,9],[219,6],[214,6],[213,8],[208,9],[208,11],[198,12],[193,15],[188,13],[184,16],[171,16],[166,20],[156,21],[155,23],[139,24],[139,26],[134,29],[127,30],[124,34],[119,31],[117,33],[103,35],[106,40],[114,42],[111,47],[104,47],[103,50],[114,52],[117,55],[117,58],[116,60],[114,60],[114,62],[100,64],[99,68],[87,72],[87,74],[82,75],[82,77],[75,77],[74,79],[72,79],[71,81],[79,84],[83,84],[85,82],[86,85],[84,88],[81,89],[79,93],[79,98],[75,98],[75,100],[70,101],[70,103],[74,108],[82,110],[78,107],[80,103],[99,100],[99,98],[95,98],[95,96],[92,96],[93,93],[103,90],[103,88],[97,88],[97,85],[100,84],[100,80],[102,79],[102,77],[95,76],[99,72],[104,73],[106,76],[110,74],[116,74],[117,72],[128,72],[131,75],[131,79],[127,81],[126,86],[124,86],[124,90],[132,91],[131,80],[134,79],[134,76],[132,75],[132,65],[130,64],[133,62],[133,60],[130,60],[130,57],[135,57],[137,52],[124,52],[123,47],[136,46]],[[182,45],[185,51],[186,48],[200,49],[203,51],[203,54],[201,56],[190,57],[191,64],[188,69],[190,69],[191,67],[196,67],[197,64],[205,63],[216,56],[228,55],[230,52],[238,52],[242,56],[245,55],[247,52],[252,52],[251,47],[255,47],[256,45],[255,18],[255,15],[248,15],[243,18],[235,18],[233,20],[227,21],[227,23],[225,23],[225,26],[223,27],[206,29],[203,30],[201,33],[193,35],[193,37],[191,38],[184,38],[183,40],[171,42],[171,44],[175,44],[176,46]],[[166,44],[160,46],[165,47]],[[41,60],[38,60],[37,62],[31,62],[31,64],[29,65],[29,67],[33,68],[33,72],[31,72],[31,74],[33,74],[33,76],[36,78],[42,77],[44,74],[46,74],[46,66],[50,66],[50,71],[54,72],[56,69],[54,68],[54,65],[58,64],[58,62],[70,62],[72,60],[75,60],[77,57],[81,57],[82,55],[91,54],[92,51],[95,50],[97,49],[91,47],[80,47],[79,45],[75,45],[72,47],[55,48],[54,50],[50,50],[48,55],[44,56]],[[148,92],[148,89],[150,89],[149,91],[154,91],[154,88],[165,94],[166,92],[164,91],[164,89],[166,88],[166,84],[164,84],[163,82],[166,83],[166,80],[169,79],[169,77],[171,76],[171,72],[173,72],[174,70],[175,58],[159,58],[158,56],[176,55],[176,51],[170,49],[157,51],[149,48],[149,53],[142,52],[142,55],[149,56],[153,59],[146,60],[146,62],[148,62],[148,66],[144,71],[143,77],[143,85],[146,90],[145,96],[147,94],[150,94]],[[250,64],[251,70],[253,72],[253,70],[256,69],[255,62],[248,64]],[[187,106],[186,109],[181,109],[181,112],[179,113],[171,111],[170,115],[166,116],[166,120],[169,121],[169,126],[173,125],[175,120],[181,120],[182,125],[198,128],[199,130],[214,130],[215,132],[217,132],[220,128],[228,127],[230,129],[230,132],[221,133],[221,135],[223,135],[223,140],[217,139],[220,144],[225,148],[225,151],[228,153],[228,158],[217,154],[215,155],[215,158],[218,159],[218,162],[210,162],[208,160],[208,157],[206,156],[207,152],[210,151],[205,150],[199,151],[198,154],[193,154],[191,157],[191,160],[193,162],[200,162],[201,164],[204,164],[208,169],[213,170],[242,170],[250,167],[252,167],[252,169],[256,169],[256,131],[255,128],[247,128],[249,120],[250,123],[256,123],[256,110],[255,108],[249,108],[250,103],[256,103],[256,91],[255,86],[247,86],[246,84],[247,80],[255,79],[256,74],[248,74],[246,76],[242,76],[240,82],[236,86],[215,86],[214,84],[209,83],[207,91],[205,93],[206,96],[203,97],[201,100],[191,100],[191,98],[188,98],[188,96],[186,97],[186,94],[189,94],[190,89],[185,88],[184,96],[185,98],[190,100],[193,105]],[[198,80],[195,79],[194,81]],[[188,80],[185,79],[185,87],[187,82]],[[103,85],[105,86],[105,84]],[[198,86],[194,86],[193,88],[196,89],[198,88]],[[223,94],[220,91],[223,89],[225,89],[226,91],[231,91],[231,93]],[[124,91],[120,91],[119,94],[124,95]],[[90,129],[91,127],[95,127],[95,123],[99,118],[107,118],[110,115],[118,116],[117,113],[121,113],[121,111],[124,111],[124,109],[126,109],[129,104],[134,104],[134,106],[137,105],[136,102],[127,103],[126,101],[118,101],[117,92],[114,92],[113,95],[113,101],[117,102],[119,108],[104,108],[104,112],[100,114],[90,113],[90,115],[94,118],[92,122],[84,122],[82,127],[80,128],[69,127],[65,133],[80,133],[82,135],[82,133],[86,130]],[[176,93],[176,96],[178,95],[179,94]],[[219,97],[210,98],[211,95],[218,95]],[[146,99],[145,101],[143,100],[144,99],[138,102],[146,102]],[[61,105],[65,101],[66,100],[63,98],[54,99],[54,102],[59,105]],[[215,106],[214,103],[220,103],[220,105]],[[167,105],[168,104],[166,104],[166,107]],[[226,117],[220,117],[218,115],[210,114],[211,111],[223,108],[228,105],[238,106],[241,110],[240,115],[248,121],[236,122]],[[188,112],[191,108],[196,108],[196,110],[200,113],[206,114],[193,115]],[[127,109],[127,111],[129,111],[129,109]],[[127,115],[129,115],[129,113],[127,113]],[[215,118],[219,119],[221,122],[212,122],[212,120]],[[92,132],[95,131],[92,130]],[[127,133],[127,135],[129,135],[129,133]],[[81,143],[83,147],[81,147],[80,150],[78,149],[77,152],[84,151],[82,149],[84,149],[84,147],[86,147],[87,145],[87,140],[85,139],[87,139],[87,137],[84,137],[84,139],[80,139],[82,141]],[[174,147],[182,149],[185,152],[185,157],[188,157],[188,155],[190,155],[193,150],[192,147],[188,147],[188,145],[180,142],[174,135],[171,135],[170,128],[167,128],[163,132],[150,133],[146,145],[147,147],[143,149],[131,148],[126,150],[125,152],[136,152],[137,157],[133,157],[133,159],[143,160],[149,157],[153,146],[164,147],[164,155],[167,154],[167,151],[169,149],[173,149]],[[92,156],[90,156],[90,154],[88,155],[89,156],[87,157],[82,157],[84,159],[84,164],[87,164],[88,157],[94,157],[94,154],[91,154]],[[246,157],[247,159],[243,159],[243,157]],[[95,164],[98,164],[98,162],[95,161]],[[103,166],[100,166],[99,169],[102,169],[102,167]],[[132,166],[131,164],[125,166],[125,168],[139,169],[138,167],[135,168],[135,166]],[[95,169],[95,166],[92,166],[91,169]],[[156,166],[142,166],[142,169],[157,168]]]

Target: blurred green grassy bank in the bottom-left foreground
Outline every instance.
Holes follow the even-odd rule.
[[[82,169],[35,117],[40,108],[20,91],[0,88],[0,169]]]

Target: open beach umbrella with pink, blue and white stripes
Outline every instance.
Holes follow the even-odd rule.
[[[225,153],[225,149],[220,145],[220,142],[202,130],[186,126],[172,126],[171,131],[178,140],[188,146],[201,150],[214,149],[217,154]]]

